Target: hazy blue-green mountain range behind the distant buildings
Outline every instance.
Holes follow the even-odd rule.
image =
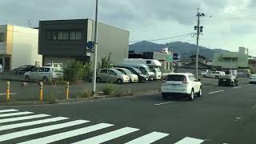
[[[173,53],[178,53],[181,55],[182,59],[187,59],[191,55],[196,54],[197,46],[188,42],[171,42],[166,44],[158,44],[154,42],[137,42],[129,46],[129,50],[134,50],[138,52],[146,51],[162,51],[162,48],[168,47]],[[228,50],[222,49],[210,49],[204,46],[199,46],[199,54],[208,58],[213,59],[214,54],[228,52]]]

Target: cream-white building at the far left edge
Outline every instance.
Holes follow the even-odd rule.
[[[42,65],[38,54],[38,30],[11,25],[0,25],[0,64],[4,70],[22,65]]]

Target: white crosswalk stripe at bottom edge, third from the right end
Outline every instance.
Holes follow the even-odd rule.
[[[82,140],[80,142],[74,142],[74,144],[85,144],[85,143],[99,144],[102,142],[110,141],[111,139],[114,139],[114,138],[121,137],[126,134],[133,133],[134,131],[137,131],[137,130],[139,130],[139,129],[125,127],[125,128],[119,129],[119,130],[111,131],[106,134],[101,134],[101,135],[95,136],[93,138],[88,138],[88,139]]]

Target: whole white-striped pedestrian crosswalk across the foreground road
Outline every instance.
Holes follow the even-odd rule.
[[[100,132],[101,130],[103,132]],[[50,131],[54,131],[54,134],[49,134]],[[95,132],[98,131],[99,134],[96,134]],[[72,120],[72,118],[66,117],[53,118],[50,114],[34,114],[29,111],[0,110],[0,143],[13,143],[12,140],[15,139],[15,143],[19,144],[46,144],[64,142],[69,138],[73,138],[72,142],[74,144],[111,143],[111,141],[138,131],[142,130],[134,127],[116,128],[114,124],[92,123],[87,120]],[[90,138],[86,137],[86,134],[91,133],[95,134]],[[34,137],[30,137],[31,135],[34,135]],[[79,138],[76,139],[76,137]],[[136,138],[133,137],[134,139],[127,137],[126,142],[122,143],[150,144],[170,137],[171,134],[153,131],[147,134],[142,133],[142,136],[136,135]],[[19,141],[19,139],[21,140]],[[77,141],[74,142],[74,140]],[[186,137],[176,143],[167,143],[200,144],[202,142],[205,142],[205,140]]]

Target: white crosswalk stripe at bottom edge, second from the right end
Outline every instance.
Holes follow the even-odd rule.
[[[158,141],[161,138],[165,138],[168,135],[169,134],[152,132],[150,134],[146,134],[140,138],[136,138],[130,142],[127,142],[126,144],[138,144],[138,143],[139,144],[150,144],[150,143]]]

